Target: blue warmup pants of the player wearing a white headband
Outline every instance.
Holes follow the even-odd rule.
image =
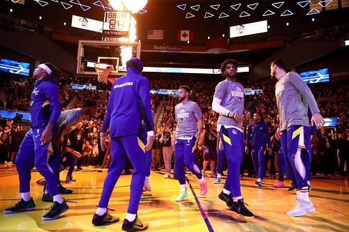
[[[47,147],[50,143],[41,145],[41,136],[44,127],[30,129],[25,135],[20,150],[16,157],[16,168],[20,176],[20,192],[30,191],[31,169],[36,167],[38,172],[45,178],[45,183],[51,196],[59,194],[57,176],[57,168],[60,162],[60,153],[54,150],[54,155],[47,157]],[[54,136],[52,136],[54,141]],[[54,148],[55,149],[55,148]]]

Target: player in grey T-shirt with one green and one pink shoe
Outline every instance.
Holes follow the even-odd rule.
[[[183,201],[188,196],[186,190],[187,167],[200,181],[200,194],[207,194],[207,182],[195,160],[196,141],[202,132],[202,113],[196,102],[189,100],[191,89],[188,86],[179,86],[178,97],[181,103],[174,107],[177,127],[174,133],[174,178],[179,180],[181,192],[176,201]]]

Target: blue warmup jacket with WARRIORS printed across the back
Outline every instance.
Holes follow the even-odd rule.
[[[142,120],[147,132],[152,131],[149,91],[149,80],[135,68],[127,68],[127,75],[112,84],[101,132],[105,133],[109,126],[112,138],[138,134]]]

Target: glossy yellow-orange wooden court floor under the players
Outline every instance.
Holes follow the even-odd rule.
[[[102,171],[102,172],[101,172]],[[70,207],[59,219],[45,222],[41,216],[51,203],[41,201],[43,186],[37,183],[42,177],[37,171],[31,174],[31,194],[36,208],[30,212],[5,215],[3,208],[20,199],[15,167],[0,164],[0,231],[121,231],[121,222],[108,226],[93,226],[92,216],[101,196],[106,169],[84,167],[73,173],[75,183],[64,184],[73,194],[64,195]],[[149,223],[147,231],[349,231],[349,179],[339,177],[314,177],[311,200],[316,212],[303,217],[290,217],[286,212],[293,208],[295,194],[287,187],[276,189],[276,179],[265,179],[263,187],[256,187],[254,178],[242,178],[242,194],[255,217],[244,219],[228,210],[218,199],[223,184],[214,185],[209,178],[209,192],[200,196],[198,180],[188,174],[187,187],[191,194],[186,201],[174,201],[179,184],[173,178],[164,179],[163,173],[152,172],[151,192],[144,192],[138,216]],[[65,179],[66,171],[61,173]],[[110,212],[124,219],[129,199],[131,175],[121,175],[110,200]],[[224,182],[224,179],[223,179]],[[285,183],[289,185],[290,181]]]

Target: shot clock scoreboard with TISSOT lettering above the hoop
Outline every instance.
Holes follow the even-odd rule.
[[[107,11],[103,21],[103,40],[113,41],[128,38],[131,26],[131,11]]]

